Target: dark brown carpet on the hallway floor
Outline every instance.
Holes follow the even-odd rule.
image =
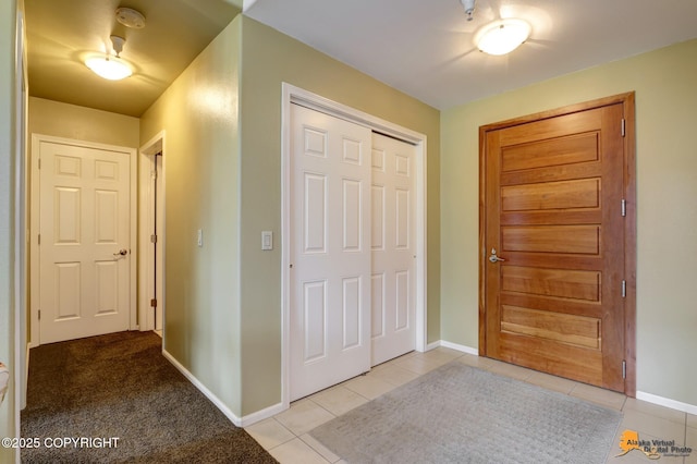
[[[161,354],[152,332],[120,332],[33,349],[24,463],[276,463]],[[118,437],[117,448],[56,438]],[[90,444],[90,443],[86,443]]]

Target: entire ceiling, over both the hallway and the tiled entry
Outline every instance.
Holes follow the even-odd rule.
[[[25,0],[33,96],[139,117],[239,13],[242,0]],[[115,22],[142,11],[144,29]],[[245,0],[245,14],[439,109],[697,37],[697,0]],[[476,50],[498,17],[533,25],[505,57]],[[81,57],[125,35],[136,73],[103,81]],[[697,59],[697,57],[696,57]]]

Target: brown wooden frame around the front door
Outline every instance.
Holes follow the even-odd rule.
[[[624,393],[634,398],[636,396],[636,120],[634,91],[570,105],[549,111],[541,111],[479,127],[479,354],[481,356],[487,355],[486,265],[488,262],[488,255],[485,241],[487,236],[487,133],[533,121],[617,103],[622,103],[624,109],[624,127],[617,127],[617,130],[624,131],[623,196],[626,202],[624,220],[624,270],[626,280],[626,296],[624,298],[624,361],[626,363],[626,376]]]

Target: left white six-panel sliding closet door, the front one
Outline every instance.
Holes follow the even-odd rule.
[[[370,130],[292,105],[291,401],[370,369]]]

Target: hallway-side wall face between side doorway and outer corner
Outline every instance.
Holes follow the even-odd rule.
[[[166,132],[164,350],[241,417],[239,34],[237,17],[143,114],[140,144]]]

